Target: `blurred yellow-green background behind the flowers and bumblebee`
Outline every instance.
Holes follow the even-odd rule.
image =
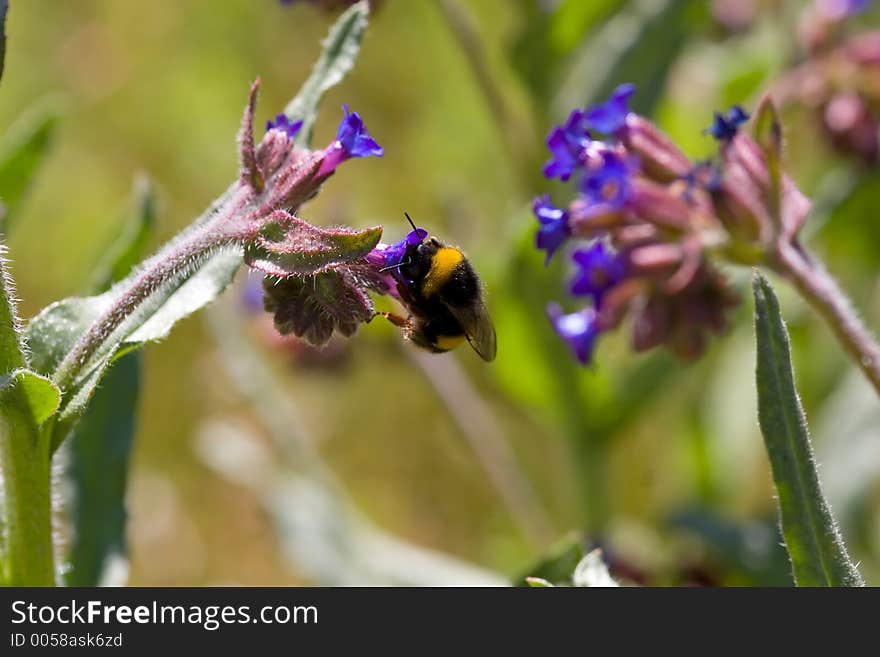
[[[320,496],[292,487],[304,497],[285,510],[288,489],[275,486],[284,473],[326,479],[325,467],[331,488],[350,496],[346,513],[357,508],[407,545],[508,579],[574,531],[641,583],[789,581],[755,421],[748,272],[731,272],[744,305],[699,363],[634,355],[621,332],[580,370],[543,310],[564,298],[566,264],[542,267],[528,206],[552,189],[540,175],[552,123],[620,82],[639,85],[637,108],[690,155],[711,153],[701,130],[712,111],[754,106],[797,57],[793,26],[805,3],[755,3],[754,23],[737,30],[717,20],[719,3],[542,8],[553,4],[383,2],[355,70],[323,105],[315,144],[332,139],[349,103],[385,156],[347,164],[302,212],[317,224],[381,223],[396,240],[406,210],[461,245],[488,286],[497,362],[466,349],[419,358],[379,323],[323,355],[279,343],[240,310],[241,271],[217,308],[145,352],[128,494],[131,584],[393,581],[359,579],[359,555],[329,554],[322,532],[350,528]],[[159,190],[154,246],[200,214],[236,174],[251,80],[262,78],[262,125],[308,75],[333,20],[274,0],[12,5],[0,123],[14,131],[25,112],[59,115],[9,238],[25,317],[88,290],[138,172]],[[860,20],[876,24],[876,12]],[[817,200],[809,242],[880,326],[880,176],[832,153],[809,112],[784,117],[792,174]],[[826,327],[783,282],[777,289],[826,493],[876,582],[877,400]],[[266,365],[269,403],[255,409],[248,395],[260,396],[258,386],[231,374],[239,356]],[[282,459],[285,431],[320,461],[296,450]],[[248,445],[264,460],[243,472]],[[267,467],[274,474],[252,476]],[[326,570],[315,565],[324,557]],[[328,576],[342,567],[333,559],[348,560],[351,573]],[[406,559],[414,571],[436,566],[409,554],[401,569]]]

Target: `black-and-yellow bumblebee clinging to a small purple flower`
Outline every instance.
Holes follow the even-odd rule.
[[[413,230],[387,247],[383,270],[397,282],[398,298],[409,317],[380,314],[403,328],[417,347],[442,353],[467,340],[480,358],[494,360],[495,327],[474,268],[459,249],[428,237],[404,214]]]

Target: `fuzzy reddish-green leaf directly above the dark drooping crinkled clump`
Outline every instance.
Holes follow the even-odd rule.
[[[382,227],[356,231],[318,228],[279,211],[245,248],[245,262],[271,276],[316,274],[367,255],[382,237]]]

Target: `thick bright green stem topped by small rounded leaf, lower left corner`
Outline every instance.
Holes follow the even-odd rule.
[[[29,370],[16,370],[0,381],[2,575],[10,586],[51,586],[55,581],[49,445],[40,425],[60,399],[52,381]]]

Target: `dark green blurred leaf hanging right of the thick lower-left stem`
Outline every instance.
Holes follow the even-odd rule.
[[[114,365],[73,431],[68,586],[98,586],[108,566],[125,558],[125,493],[140,370],[137,353]]]

